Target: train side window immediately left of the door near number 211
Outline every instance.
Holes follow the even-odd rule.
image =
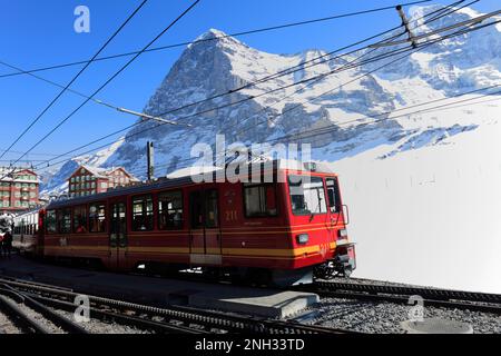
[[[181,191],[169,191],[158,195],[158,228],[160,230],[183,228]]]

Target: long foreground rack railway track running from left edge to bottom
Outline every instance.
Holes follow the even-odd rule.
[[[72,290],[17,279],[2,279],[14,293],[36,300],[47,308],[73,312],[80,294]],[[185,306],[158,308],[99,296],[87,296],[91,318],[129,325],[160,334],[357,334],[352,330],[302,325],[275,319],[249,318]]]

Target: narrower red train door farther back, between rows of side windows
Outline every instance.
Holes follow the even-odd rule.
[[[127,204],[125,200],[112,201],[109,206],[109,265],[112,269],[124,269],[127,255]]]

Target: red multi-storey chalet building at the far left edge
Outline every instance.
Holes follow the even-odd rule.
[[[31,169],[0,167],[0,212],[38,206],[39,184],[37,174]]]

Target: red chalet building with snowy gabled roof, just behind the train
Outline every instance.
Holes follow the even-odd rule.
[[[137,181],[139,180],[122,167],[98,168],[81,165],[68,179],[68,195],[69,197],[90,196]]]

